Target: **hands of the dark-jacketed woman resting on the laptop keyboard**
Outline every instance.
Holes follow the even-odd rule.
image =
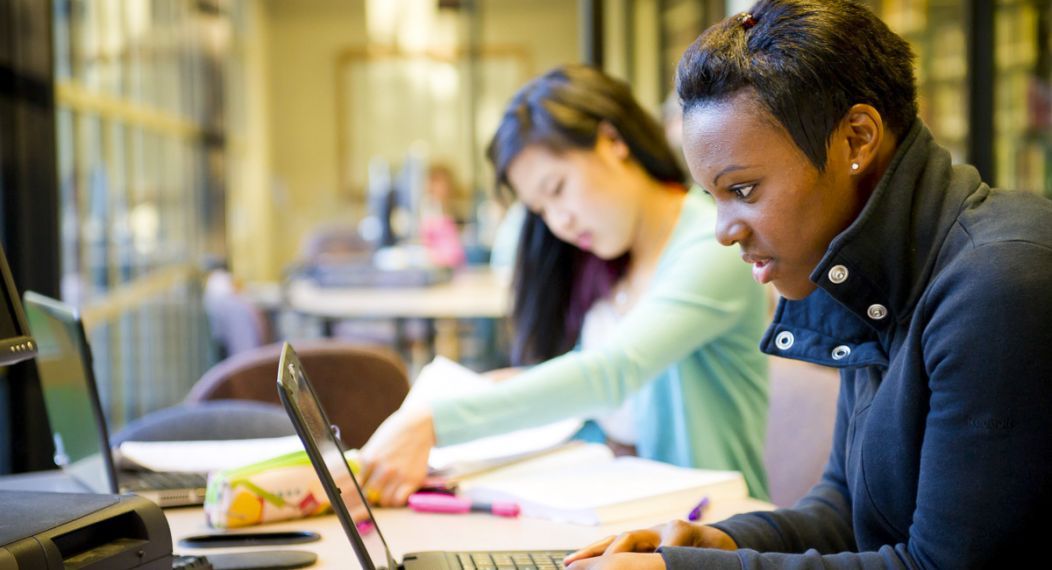
[[[607,536],[570,554],[566,557],[564,564],[569,566],[575,561],[619,552],[653,552],[662,546],[690,546],[695,548],[720,548],[724,550],[737,549],[734,541],[717,528],[688,523],[686,521],[672,521],[649,529],[631,530],[614,536]]]

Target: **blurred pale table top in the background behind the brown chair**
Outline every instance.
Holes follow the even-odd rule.
[[[254,299],[272,302],[274,291],[259,285]],[[452,280],[428,287],[319,287],[309,281],[288,285],[289,308],[326,319],[501,318],[510,308],[510,284],[489,269],[465,269]]]

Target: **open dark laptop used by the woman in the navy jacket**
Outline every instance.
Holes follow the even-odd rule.
[[[347,503],[358,497],[362,504],[365,497],[358,485],[353,472],[344,459],[344,449],[336,436],[336,426],[325,415],[318,395],[315,393],[307,373],[300,364],[291,345],[285,343],[281,351],[281,362],[278,369],[278,393],[285,411],[296,426],[296,432],[303,441],[310,463],[318,472],[318,477],[325,488],[332,510],[340,520],[343,531],[350,541],[350,546],[358,555],[358,561],[365,570],[402,569],[402,570],[476,570],[483,568],[563,568],[563,558],[571,550],[544,551],[511,551],[511,552],[416,552],[406,554],[401,564],[391,556],[387,541],[380,526],[376,524],[372,510],[369,518],[372,521],[375,535],[370,544],[362,540],[362,535],[350,516]],[[371,548],[370,548],[371,547]]]

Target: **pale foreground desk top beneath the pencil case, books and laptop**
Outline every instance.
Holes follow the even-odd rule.
[[[421,514],[408,509],[380,509],[377,524],[384,533],[391,553],[401,559],[407,552],[425,550],[543,550],[578,548],[604,536],[625,530],[646,528],[683,517],[684,512],[670,512],[658,516],[638,518],[614,525],[586,527],[553,523],[539,518],[502,518],[488,514]],[[743,500],[733,503],[713,503],[704,521],[715,522],[732,514],[753,510],[769,510],[769,503]],[[244,549],[187,549],[180,547],[180,538],[204,532],[215,532],[205,525],[201,509],[168,509],[165,511],[171,526],[175,550],[180,554],[208,552],[237,552]],[[360,568],[350,548],[350,542],[335,515],[275,523],[259,530],[313,530],[322,535],[317,543],[270,547],[274,549],[310,550],[318,553],[313,568]],[[245,529],[252,530],[252,529]],[[376,532],[366,535],[370,549],[379,548]],[[258,550],[261,547],[254,547]]]

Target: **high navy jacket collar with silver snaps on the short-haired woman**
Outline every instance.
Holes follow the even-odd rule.
[[[950,154],[914,121],[862,213],[811,273],[818,288],[806,299],[780,302],[761,348],[834,366],[882,362],[875,333],[910,320],[946,235],[980,184],[974,168],[951,166]],[[781,345],[775,342],[793,329],[818,342],[789,343],[796,346],[788,349],[784,334]]]

